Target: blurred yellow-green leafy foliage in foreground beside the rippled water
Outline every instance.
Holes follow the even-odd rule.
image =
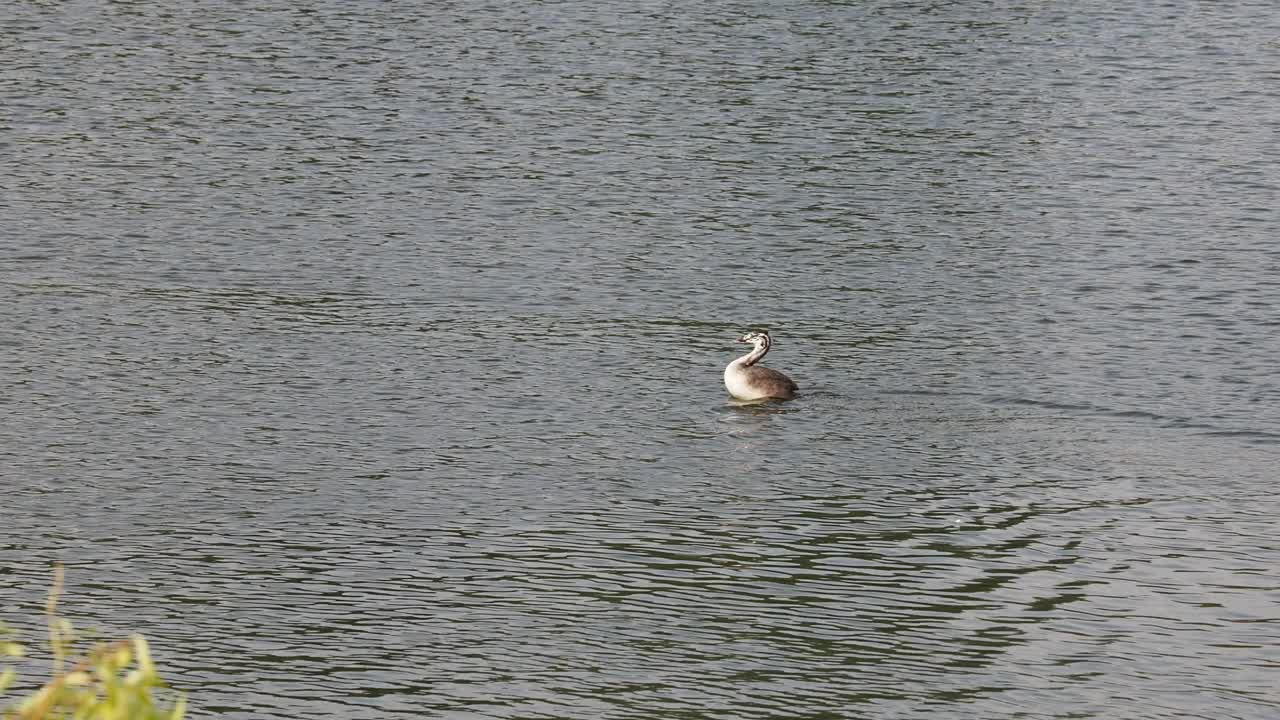
[[[46,616],[49,647],[52,655],[51,678],[28,697],[0,708],[3,720],[180,720],[186,700],[161,705],[152,691],[164,682],[151,662],[147,641],[133,635],[127,641],[95,643],[81,650],[72,624],[58,616],[58,596],[63,569],[55,568],[54,588],[49,593]],[[4,639],[0,626],[0,662],[12,664],[26,655],[23,646]],[[0,669],[0,693],[17,676],[12,666]]]

